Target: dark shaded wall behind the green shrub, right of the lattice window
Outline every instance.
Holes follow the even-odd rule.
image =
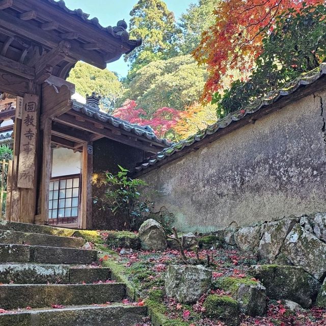
[[[118,165],[125,169],[134,168],[137,162],[144,159],[142,150],[102,138],[93,144],[93,180],[92,197],[102,198],[106,190],[104,171],[116,173]],[[122,230],[124,222],[120,216],[113,215],[110,210],[101,209],[99,200],[93,204],[92,228],[106,230]]]

